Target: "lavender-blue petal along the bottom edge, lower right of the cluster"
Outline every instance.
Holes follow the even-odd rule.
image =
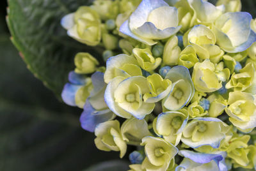
[[[201,164],[209,163],[210,161],[214,160],[219,165],[219,162],[223,160],[223,156],[220,154],[205,154],[188,150],[181,150],[179,151],[179,154],[185,158],[189,158],[190,160]]]

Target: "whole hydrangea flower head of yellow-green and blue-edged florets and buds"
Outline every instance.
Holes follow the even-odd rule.
[[[131,170],[256,169],[256,20],[240,0],[95,0],[61,20],[80,52],[62,98]],[[106,62],[106,65],[104,64]],[[250,140],[251,138],[251,140]]]

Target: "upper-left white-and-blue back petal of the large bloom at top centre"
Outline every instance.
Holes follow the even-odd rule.
[[[138,8],[131,14],[129,18],[129,28],[133,31],[142,26],[148,20],[150,11],[161,6],[169,6],[163,0],[143,0]]]

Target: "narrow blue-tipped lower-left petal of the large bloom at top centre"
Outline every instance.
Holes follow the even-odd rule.
[[[120,27],[119,31],[127,36],[130,36],[131,38],[134,38],[135,40],[138,40],[142,43],[145,43],[147,45],[155,45],[157,43],[157,41],[153,41],[147,38],[141,38],[140,36],[137,36],[136,34],[132,33],[130,28],[129,28],[129,23],[128,20],[126,20],[122,26]]]

